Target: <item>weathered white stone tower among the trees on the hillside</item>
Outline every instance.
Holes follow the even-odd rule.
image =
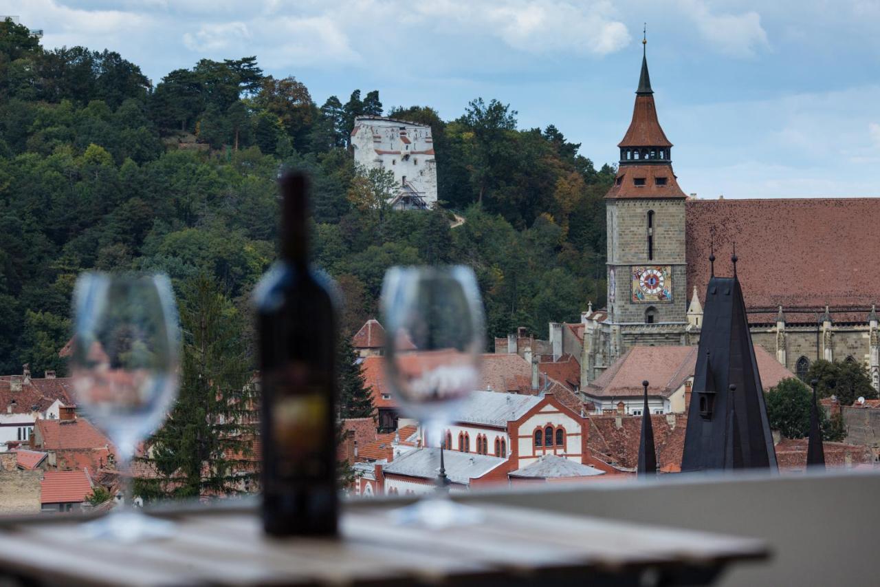
[[[392,207],[426,210],[436,206],[434,139],[427,124],[380,116],[358,116],[351,131],[355,163],[391,171],[398,185]]]

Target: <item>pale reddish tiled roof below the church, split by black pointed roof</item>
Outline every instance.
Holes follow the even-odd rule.
[[[650,396],[669,398],[693,376],[696,359],[696,346],[631,346],[583,392],[593,398],[640,397],[642,381],[647,379]],[[758,345],[755,345],[755,359],[764,390],[795,376]]]

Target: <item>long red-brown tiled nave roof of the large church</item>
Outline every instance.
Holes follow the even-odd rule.
[[[737,242],[737,274],[748,308],[768,308],[762,322],[775,322],[778,306],[793,322],[832,318],[865,322],[880,303],[869,260],[880,256],[880,198],[690,200],[686,203],[687,290],[697,287],[705,302],[709,248],[715,234],[715,272],[730,274]],[[767,251],[773,251],[768,255]],[[808,278],[804,278],[808,276]],[[847,307],[862,308],[845,312]],[[837,308],[844,315],[835,313]],[[750,321],[754,318],[750,315]]]

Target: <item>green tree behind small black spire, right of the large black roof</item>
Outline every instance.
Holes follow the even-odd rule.
[[[767,419],[770,427],[786,438],[806,438],[810,435],[810,411],[813,393],[799,379],[783,379],[766,393]],[[841,441],[845,435],[840,416],[829,419],[820,406],[819,429],[826,441]]]

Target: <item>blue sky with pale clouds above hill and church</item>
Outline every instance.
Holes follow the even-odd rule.
[[[330,95],[447,120],[477,97],[618,157],[648,61],[673,167],[698,197],[880,196],[880,2],[0,0],[43,46],[108,48],[158,83],[257,56]]]

